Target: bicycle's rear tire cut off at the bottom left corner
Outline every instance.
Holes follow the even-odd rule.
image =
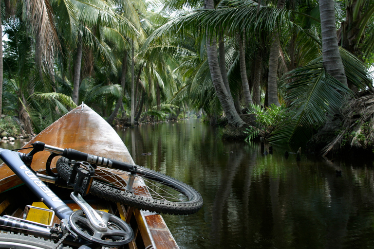
[[[22,233],[13,233],[0,231],[0,248],[12,249],[51,249],[55,248],[56,244],[51,240],[45,240],[40,237],[32,235],[25,235]],[[60,245],[59,249],[71,249],[70,247],[63,247]]]

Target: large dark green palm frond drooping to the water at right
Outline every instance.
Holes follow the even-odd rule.
[[[315,125],[323,124],[328,115],[334,115],[345,103],[350,89],[325,73],[321,66],[314,63],[299,68],[287,78],[294,79],[284,87],[286,101],[291,102],[288,120],[274,131],[270,142],[305,141]]]

